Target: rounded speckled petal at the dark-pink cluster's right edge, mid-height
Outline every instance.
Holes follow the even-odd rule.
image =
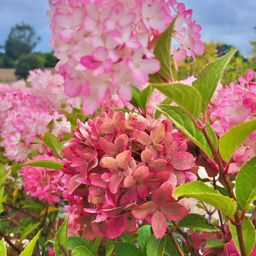
[[[178,152],[171,160],[177,170],[188,170],[195,165],[194,156],[188,152]]]

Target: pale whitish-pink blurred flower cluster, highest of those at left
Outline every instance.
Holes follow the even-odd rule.
[[[82,97],[69,98],[64,93],[64,78],[60,74],[35,69],[29,71],[27,81],[31,84],[31,94],[47,100],[52,111],[58,111],[62,106],[69,113],[73,108],[81,108]]]

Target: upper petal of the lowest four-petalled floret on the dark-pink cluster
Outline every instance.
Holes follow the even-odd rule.
[[[152,199],[157,205],[163,205],[172,200],[172,183],[164,182],[153,194]]]

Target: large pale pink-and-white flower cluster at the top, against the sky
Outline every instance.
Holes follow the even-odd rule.
[[[129,84],[148,82],[160,68],[154,59],[156,38],[178,14],[173,28],[171,54],[177,68],[186,56],[204,53],[201,26],[192,21],[192,10],[176,0],[90,1],[49,0],[51,46],[60,60],[56,70],[65,79],[69,97],[84,96],[86,115],[96,112],[98,102],[118,92],[132,98]]]

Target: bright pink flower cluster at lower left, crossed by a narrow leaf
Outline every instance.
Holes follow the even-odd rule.
[[[62,160],[48,155],[34,156],[32,160],[62,162]],[[27,159],[26,163],[30,161],[30,159]],[[20,175],[23,176],[23,184],[25,185],[27,194],[32,197],[38,197],[38,199],[44,203],[52,204],[52,202],[60,202],[60,195],[64,190],[64,187],[61,186],[63,176],[61,171],[44,167],[23,166],[20,170]]]

